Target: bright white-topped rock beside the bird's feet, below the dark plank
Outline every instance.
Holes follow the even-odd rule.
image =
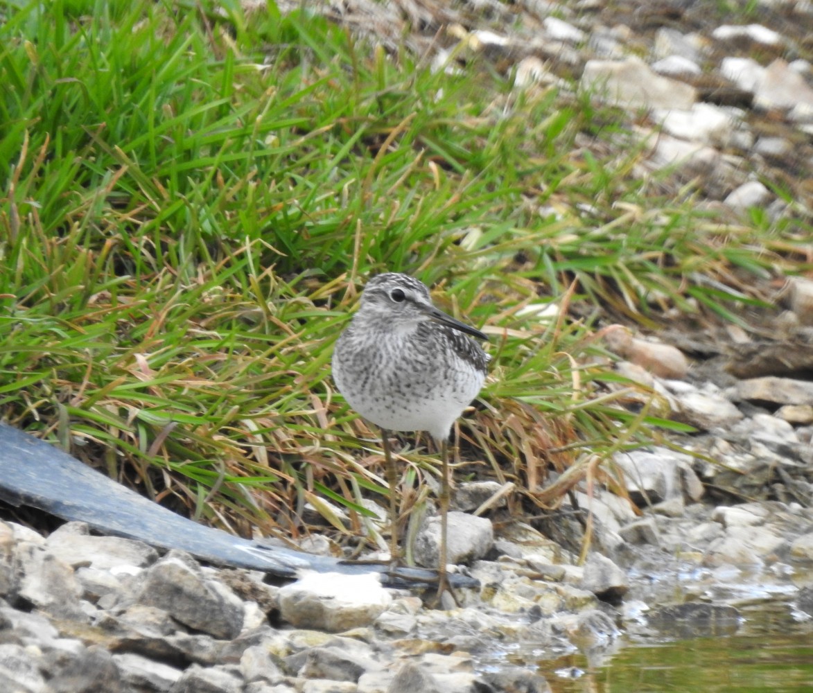
[[[392,603],[377,574],[302,574],[280,588],[280,613],[299,628],[331,633],[369,626]]]

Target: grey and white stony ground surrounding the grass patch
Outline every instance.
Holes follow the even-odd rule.
[[[420,25],[407,43],[431,48],[437,69],[463,69],[450,56],[469,52],[513,73],[515,89],[601,91],[646,147],[642,178],[693,180],[698,204],[733,220],[757,206],[810,227],[813,3],[766,0],[753,22],[714,25],[703,3],[516,4],[314,6],[385,43]],[[809,621],[811,287],[767,284],[776,309],[757,332],[650,339],[607,327],[616,368],[654,393],[631,389],[630,408],[650,402],[697,432],[616,453],[628,499],[576,488],[558,519],[580,536],[589,527],[583,563],[567,541],[506,517],[510,489],[459,483],[450,549],[480,588],[448,610],[375,575],[277,583],[80,522],[47,535],[0,522],[0,691],[534,693],[550,690],[534,659],[604,652],[624,632],[731,633],[754,594]],[[427,563],[433,531],[418,540]]]

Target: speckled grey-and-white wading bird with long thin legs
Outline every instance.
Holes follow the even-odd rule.
[[[437,601],[449,589],[446,527],[451,427],[485,383],[491,357],[480,330],[437,309],[423,282],[386,272],[363,289],[359,310],[333,349],[333,380],[352,409],[381,431],[389,485],[390,561],[397,564],[397,469],[390,431],[427,431],[441,457],[441,541]],[[452,593],[454,597],[454,593]]]

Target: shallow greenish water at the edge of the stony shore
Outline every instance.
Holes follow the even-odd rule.
[[[537,651],[536,661],[527,650],[505,654],[541,674],[554,693],[813,691],[813,618],[780,601],[740,609],[743,621],[733,635],[670,639],[645,632],[624,635],[610,650],[559,657]]]

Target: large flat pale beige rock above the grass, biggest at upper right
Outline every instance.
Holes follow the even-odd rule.
[[[689,84],[659,76],[640,58],[589,60],[581,85],[609,102],[633,108],[688,110],[697,100],[697,92]]]

